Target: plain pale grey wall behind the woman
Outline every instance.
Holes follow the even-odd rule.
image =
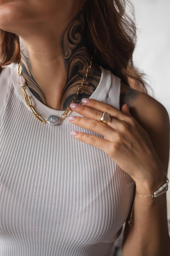
[[[136,10],[138,43],[134,53],[137,67],[149,76],[155,99],[170,116],[170,0],[132,0]],[[170,164],[169,164],[170,178]],[[169,186],[170,187],[170,186]],[[170,219],[170,188],[168,191]]]

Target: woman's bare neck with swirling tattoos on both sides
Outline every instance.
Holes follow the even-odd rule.
[[[35,38],[20,38],[22,70],[27,85],[47,106],[65,109],[77,92],[91,59],[85,45],[83,14],[79,13],[64,32]],[[82,90],[82,94],[89,97],[99,79],[100,70],[93,65],[86,81],[88,94],[87,90]]]

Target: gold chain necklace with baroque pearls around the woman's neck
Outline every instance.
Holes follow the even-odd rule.
[[[87,79],[88,72],[91,70],[92,61],[93,61],[93,59],[91,58],[91,61],[90,61],[89,65],[86,69],[86,74],[82,79],[82,83],[79,85],[78,91],[75,93],[75,95],[73,97],[73,100],[70,102],[70,104],[77,100],[79,92],[82,89],[82,86],[84,85],[84,82]],[[26,85],[26,80],[24,79],[24,76],[22,76],[22,66],[20,65],[20,63],[18,63],[17,74],[18,74],[17,83],[18,83],[18,86],[20,86],[22,88],[22,92],[24,94],[24,99],[26,101],[26,105],[31,109],[31,111],[33,112],[35,117],[40,122],[42,122],[43,124],[47,122],[48,124],[55,125],[55,124],[59,124],[62,119],[66,118],[68,112],[71,110],[70,104],[67,106],[66,110],[64,111],[64,113],[60,117],[57,117],[55,115],[51,115],[46,120],[46,119],[44,119],[44,117],[42,117],[40,114],[38,114],[38,112],[35,110],[35,108],[32,105],[30,97],[26,94],[26,91],[24,89],[24,86]]]

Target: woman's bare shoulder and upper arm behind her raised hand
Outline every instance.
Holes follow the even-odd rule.
[[[128,104],[130,114],[148,133],[161,162],[167,170],[170,121],[166,108],[145,92],[134,90],[126,85],[121,86],[120,98],[122,103]]]

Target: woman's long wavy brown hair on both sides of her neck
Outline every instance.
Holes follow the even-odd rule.
[[[110,70],[127,85],[146,91],[143,75],[134,67],[132,61],[136,26],[133,17],[126,14],[127,4],[133,12],[132,4],[128,0],[86,1],[84,12],[87,47],[97,65]],[[19,37],[2,31],[0,53],[2,65],[18,63]]]

